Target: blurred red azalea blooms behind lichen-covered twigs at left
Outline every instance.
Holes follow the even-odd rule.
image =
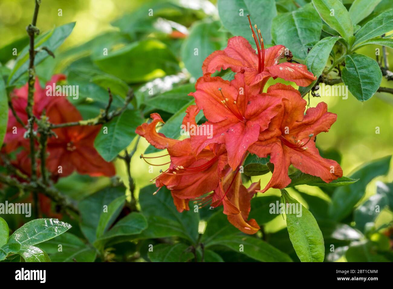
[[[64,75],[54,75],[46,86],[64,80]],[[7,133],[4,139],[5,146],[2,152],[9,154],[19,148],[13,164],[24,174],[31,174],[29,140],[25,138],[28,115],[26,113],[28,99],[28,84],[15,89],[11,95],[13,108],[23,126],[9,111]],[[39,120],[44,117],[51,124],[68,123],[82,120],[81,114],[65,96],[48,97],[46,88],[40,87],[38,79],[35,82],[33,114]],[[35,125],[35,129],[37,125]],[[70,126],[55,128],[54,136],[48,139],[46,168],[51,174],[51,179],[56,181],[59,177],[69,176],[74,170],[79,174],[90,176],[113,176],[115,169],[112,163],[106,162],[95,150],[93,144],[101,126]],[[37,135],[37,138],[39,135]],[[38,148],[39,143],[35,144]],[[37,172],[40,174],[40,172]]]

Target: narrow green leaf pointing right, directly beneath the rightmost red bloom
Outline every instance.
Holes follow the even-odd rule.
[[[314,187],[341,187],[355,183],[358,179],[352,179],[350,177],[339,177],[330,183],[326,183],[320,177],[311,176],[305,174],[300,170],[297,170],[293,174],[289,175],[291,183],[286,186],[287,188],[298,186],[298,185],[309,185]]]

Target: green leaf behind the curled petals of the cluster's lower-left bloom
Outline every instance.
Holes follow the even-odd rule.
[[[195,104],[194,100],[188,102],[185,106],[183,106],[178,112],[172,115],[159,130],[161,134],[164,134],[166,137],[170,137],[172,139],[178,139],[180,137],[181,124],[183,118],[185,117],[185,110],[190,106]],[[202,111],[198,113],[195,117],[195,121],[198,122],[203,116]],[[160,150],[154,148],[154,146],[148,146],[145,154],[151,154],[153,152],[159,152]]]

